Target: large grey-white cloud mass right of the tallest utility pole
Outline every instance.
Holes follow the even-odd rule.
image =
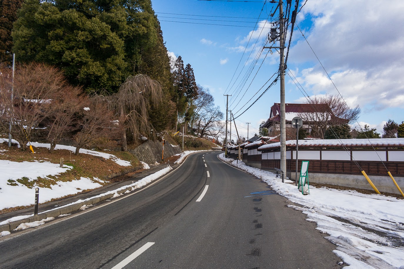
[[[302,29],[305,37],[350,106],[404,108],[403,10],[401,0],[311,0],[299,13],[301,29],[311,22]],[[308,64],[297,74],[303,88],[337,94],[306,41],[294,33],[298,40],[288,63]]]

